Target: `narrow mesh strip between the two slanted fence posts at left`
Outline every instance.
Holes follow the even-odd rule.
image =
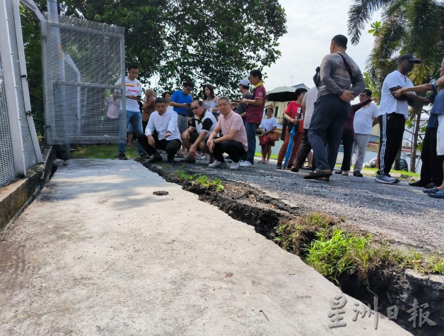
[[[11,40],[12,59],[14,63],[14,75],[16,78],[16,85],[17,85],[17,98],[19,101],[19,117],[20,117],[20,126],[21,126],[21,138],[23,141],[23,149],[25,156],[25,166],[26,169],[29,169],[33,167],[35,164],[37,164],[37,157],[31,139],[31,132],[29,131],[28,121],[26,119],[25,104],[23,100],[23,88],[21,86],[21,77],[20,77],[21,72],[20,72],[20,63],[19,63],[19,52],[18,52],[19,46],[17,45],[12,1],[13,0],[6,1],[6,13],[9,18],[8,20],[9,37]]]

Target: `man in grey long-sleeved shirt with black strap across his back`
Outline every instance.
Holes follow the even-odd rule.
[[[347,41],[344,35],[334,36],[330,54],[321,62],[322,83],[309,128],[316,170],[306,174],[305,179],[329,181],[350,111],[350,101],[366,88],[361,70],[346,54]]]

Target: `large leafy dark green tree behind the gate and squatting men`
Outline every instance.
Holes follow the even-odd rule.
[[[46,9],[45,0],[36,3]],[[144,84],[153,85],[149,78],[156,75],[156,89],[192,80],[233,93],[250,70],[276,61],[278,39],[287,33],[278,0],[65,0],[59,8],[125,27],[126,59],[139,64]]]

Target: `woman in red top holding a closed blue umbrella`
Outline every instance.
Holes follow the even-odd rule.
[[[282,161],[284,160],[284,157],[286,157],[287,152],[290,151],[291,155],[290,155],[290,161],[286,160],[285,163],[287,164],[287,162],[293,162],[294,156],[297,153],[297,150],[299,148],[299,145],[301,144],[302,141],[302,134],[303,134],[303,128],[302,128],[302,132],[299,131],[299,120],[302,117],[301,114],[301,103],[302,103],[302,98],[304,98],[305,93],[307,92],[307,89],[305,88],[299,88],[295,91],[295,94],[297,96],[297,100],[296,101],[291,101],[287,107],[287,110],[284,113],[284,119],[287,120],[288,122],[288,126],[285,132],[285,138],[284,138],[284,143],[282,144],[281,149],[279,150],[279,154],[277,156],[277,166],[276,169],[281,169],[282,168]],[[293,128],[296,128],[294,131],[294,138],[290,137],[290,132],[292,131]],[[289,143],[292,142],[292,146],[290,146],[289,148]],[[290,165],[288,165],[288,169],[290,169]]]

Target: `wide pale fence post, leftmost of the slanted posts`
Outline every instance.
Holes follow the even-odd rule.
[[[21,139],[21,126],[19,117],[19,100],[17,83],[14,75],[14,63],[12,59],[12,47],[9,36],[9,27],[6,11],[6,1],[0,0],[0,55],[4,73],[4,87],[11,129],[12,147],[14,153],[14,167],[19,176],[26,175],[24,147]]]

